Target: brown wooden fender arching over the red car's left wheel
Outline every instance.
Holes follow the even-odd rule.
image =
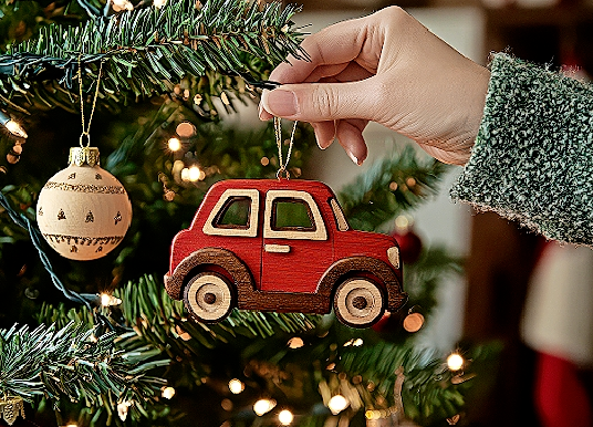
[[[183,289],[188,274],[200,265],[217,265],[225,270],[237,289],[253,289],[253,278],[248,267],[235,253],[227,249],[202,248],[187,256],[175,268],[173,274],[165,275],[165,289],[174,300],[183,298]]]

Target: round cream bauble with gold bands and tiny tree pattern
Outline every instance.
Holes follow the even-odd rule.
[[[124,186],[98,166],[96,147],[71,148],[69,164],[39,194],[39,229],[61,256],[94,260],[124,239],[132,204]]]

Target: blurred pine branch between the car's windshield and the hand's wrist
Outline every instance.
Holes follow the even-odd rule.
[[[352,227],[376,230],[404,210],[415,208],[437,192],[447,166],[422,160],[410,146],[374,163],[339,194]]]

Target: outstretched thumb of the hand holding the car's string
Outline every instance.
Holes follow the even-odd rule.
[[[273,116],[300,122],[371,119],[376,97],[366,82],[284,84],[263,91],[261,105]]]

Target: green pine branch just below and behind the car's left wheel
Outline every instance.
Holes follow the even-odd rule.
[[[119,344],[131,350],[137,345],[153,345],[166,352],[171,358],[188,354],[199,356],[200,352],[228,343],[237,336],[270,337],[275,333],[300,333],[315,327],[319,316],[300,313],[261,313],[233,310],[229,317],[217,324],[201,324],[188,321],[183,301],[171,300],[164,285],[152,275],[137,282],[128,282],[118,288],[114,296],[121,299],[121,312],[112,314],[112,323],[127,327]],[[63,305],[44,305],[38,321],[65,324],[74,321],[87,327],[95,325],[95,316],[86,308],[65,311]],[[125,340],[129,341],[125,341]]]

